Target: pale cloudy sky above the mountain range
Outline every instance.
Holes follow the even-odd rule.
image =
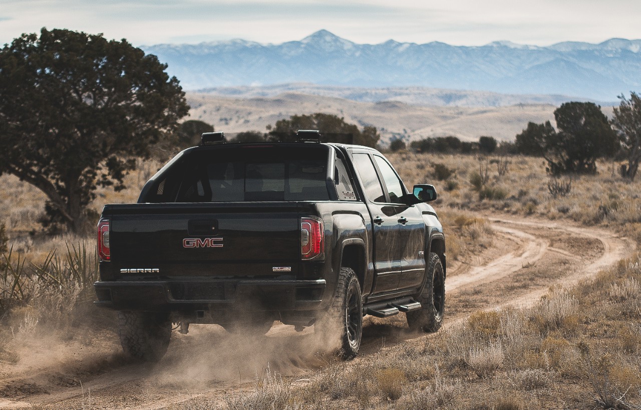
[[[319,29],[357,43],[495,40],[551,45],[641,38],[641,0],[0,0],[0,44],[42,27],[135,45],[301,40]]]

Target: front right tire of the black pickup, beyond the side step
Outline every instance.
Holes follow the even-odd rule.
[[[434,252],[429,254],[425,285],[418,297],[421,308],[406,313],[407,324],[414,331],[436,332],[443,324],[445,311],[445,274],[443,265]]]

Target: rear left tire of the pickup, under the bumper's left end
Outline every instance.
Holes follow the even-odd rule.
[[[163,313],[119,311],[118,335],[127,356],[141,361],[158,361],[169,347],[171,322]]]

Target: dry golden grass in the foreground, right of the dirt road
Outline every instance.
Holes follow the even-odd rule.
[[[422,345],[329,364],[273,408],[639,409],[640,265],[641,254],[529,309],[479,311]]]

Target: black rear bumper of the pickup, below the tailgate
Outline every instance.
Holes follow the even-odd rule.
[[[97,306],[143,311],[297,311],[322,304],[324,279],[99,281]]]

